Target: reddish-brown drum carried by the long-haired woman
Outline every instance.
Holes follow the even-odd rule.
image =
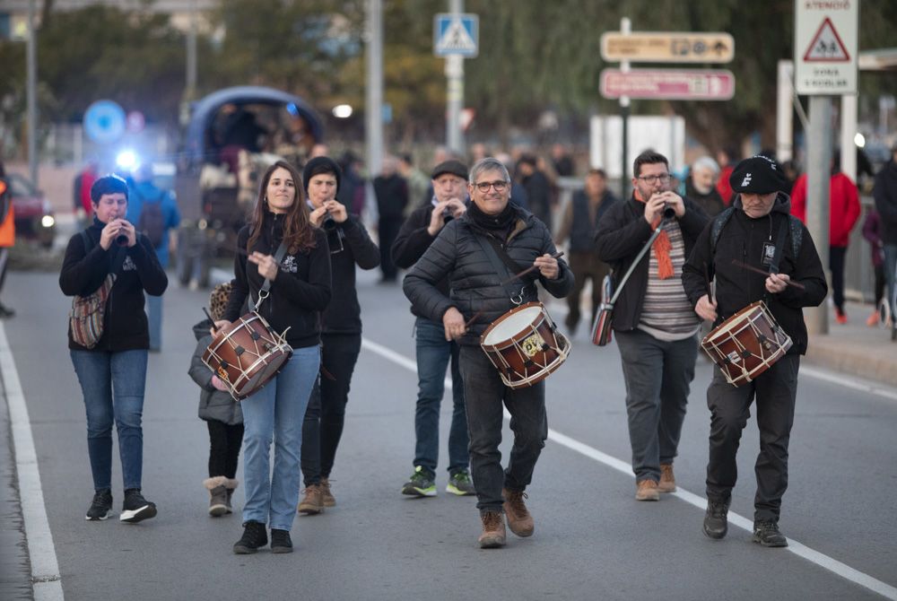
[[[284,334],[286,332],[284,331]],[[213,336],[203,362],[227,384],[235,401],[265,386],[292,356],[292,346],[257,313],[247,313]]]

